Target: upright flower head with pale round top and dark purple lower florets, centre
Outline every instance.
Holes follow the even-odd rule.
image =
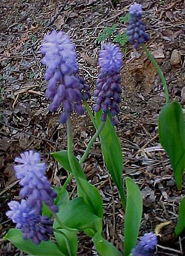
[[[111,122],[116,124],[115,115],[120,111],[120,69],[123,63],[123,54],[120,48],[113,43],[104,45],[104,49],[99,52],[99,66],[96,90],[94,92],[94,111],[102,109],[101,121],[107,118],[110,110]]]

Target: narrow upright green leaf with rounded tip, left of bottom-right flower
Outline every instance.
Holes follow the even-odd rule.
[[[142,195],[139,187],[130,177],[126,177],[126,191],[124,256],[128,256],[136,245],[142,217]]]

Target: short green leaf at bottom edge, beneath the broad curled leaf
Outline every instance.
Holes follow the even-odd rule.
[[[60,233],[54,233],[60,251],[67,256],[75,256],[78,249],[78,237],[75,232],[59,229]]]

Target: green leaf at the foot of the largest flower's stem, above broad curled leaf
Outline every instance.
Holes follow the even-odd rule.
[[[88,205],[94,215],[99,216],[99,218],[103,218],[103,202],[96,187],[89,184],[88,181],[84,181],[84,179],[79,178],[78,196],[83,197],[84,202]]]

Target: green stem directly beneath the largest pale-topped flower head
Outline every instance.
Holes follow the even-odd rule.
[[[72,120],[70,116],[68,116],[67,118],[67,154],[68,154],[68,161],[70,163],[73,176],[75,177],[76,182],[78,183],[78,174],[76,173],[76,166],[73,161],[73,135],[72,135]]]

